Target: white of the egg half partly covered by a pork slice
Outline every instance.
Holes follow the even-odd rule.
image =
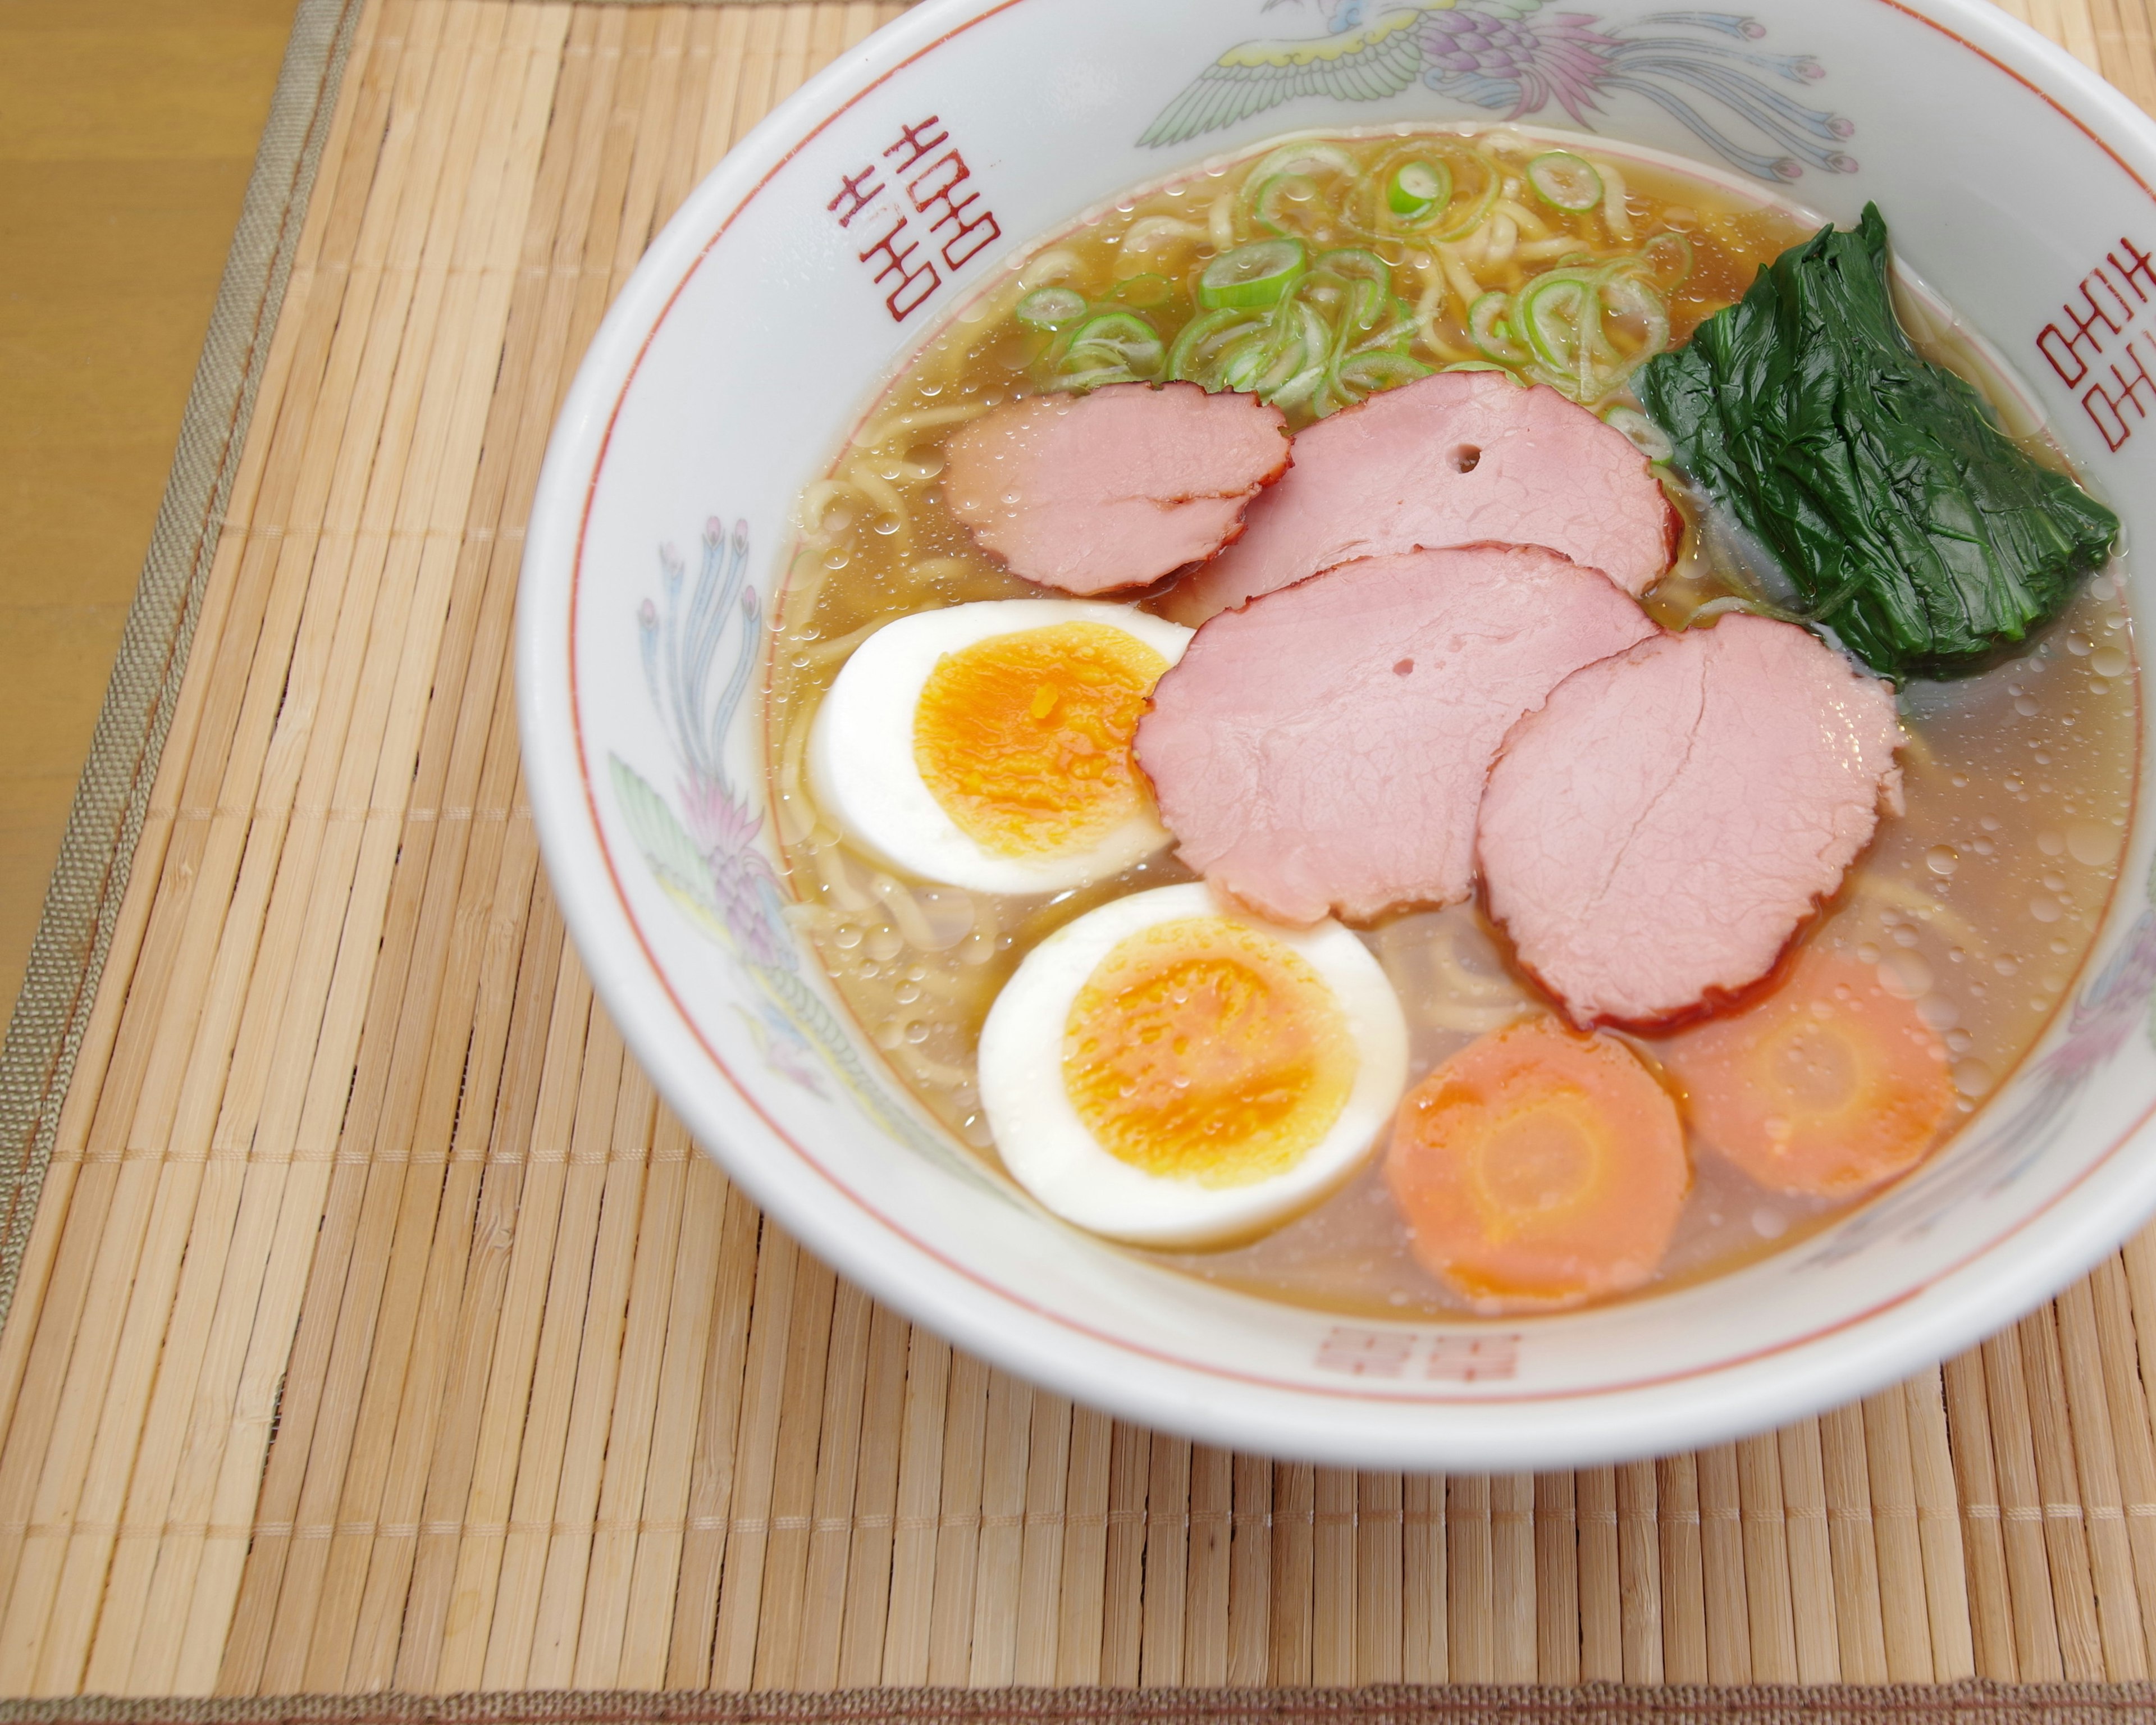
[[[1169,664],[1190,643],[1179,623],[1082,599],[981,599],[884,625],[841,666],[808,731],[808,783],[854,843],[893,869],[977,893],[1061,893],[1119,873],[1169,843],[1147,802],[1084,850],[998,856],[959,830],[923,781],[914,763],[914,709],[936,662],[998,634],[1054,623],[1106,623]]]

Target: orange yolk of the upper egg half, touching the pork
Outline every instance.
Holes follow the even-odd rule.
[[[981,850],[1082,850],[1145,809],[1130,737],[1166,668],[1106,623],[977,640],[929,671],[914,707],[914,765]]]

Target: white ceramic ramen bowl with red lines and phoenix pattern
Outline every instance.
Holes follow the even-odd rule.
[[[735,582],[720,664],[757,651],[796,494],[1013,248],[1270,134],[1516,108],[1843,222],[1878,198],[1904,263],[2020,371],[2128,543],[2156,541],[2156,384],[2139,371],[2156,373],[2156,265],[2137,261],[2156,252],[2156,127],[2139,110],[1984,0],[1570,2],[1600,17],[1587,82],[1554,71],[1557,32],[1585,26],[1552,6],[1425,0],[1369,4],[1391,82],[1412,82],[1352,99],[1328,91],[1373,63],[1348,65],[1371,41],[1365,0],[931,0],[690,196],[599,330],[539,483],[517,645],[533,804],[578,949],[666,1100],[877,1296],[1026,1378],[1212,1443],[1516,1471],[1720,1440],[1973,1343],[2156,1210],[2156,832],[2137,809],[2096,955],[2037,1054],[1947,1154],[1800,1248],[1514,1328],[1335,1320],[1190,1281],[1050,1220],[906,1098],[780,916],[761,679],[720,709],[714,677],[690,716],[662,709],[664,666],[647,681],[640,619],[683,563]],[[1242,52],[1244,71],[1207,88],[1302,95],[1141,142],[1229,112],[1173,104],[1272,37],[1307,41]],[[949,185],[953,151],[970,179]],[[899,188],[931,170],[914,192],[929,209],[875,252]],[[849,185],[875,196],[841,224]],[[2132,578],[2141,615],[2156,569]]]

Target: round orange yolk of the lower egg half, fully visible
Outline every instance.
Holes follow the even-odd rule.
[[[1063,1029],[1063,1089],[1095,1143],[1201,1186],[1291,1169],[1332,1130],[1354,1080],[1348,1016],[1326,981],[1225,916],[1119,942]]]

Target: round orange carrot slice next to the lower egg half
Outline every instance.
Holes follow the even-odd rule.
[[[1485,1035],[1408,1091],[1384,1173],[1423,1268],[1490,1313],[1639,1287],[1692,1177],[1647,1067],[1554,1018]]]

